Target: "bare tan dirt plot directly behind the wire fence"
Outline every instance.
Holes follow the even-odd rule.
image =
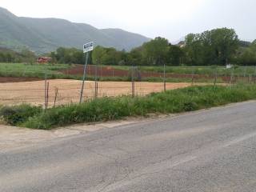
[[[58,88],[56,105],[78,102],[82,82],[77,80],[49,80],[49,106],[54,105],[55,90]],[[172,90],[190,86],[190,83],[166,83],[166,89]],[[45,101],[45,82],[7,82],[0,83],[0,104],[13,105],[22,102],[42,105]],[[146,95],[163,90],[161,82],[135,82],[135,94]],[[114,97],[131,94],[131,82],[98,82],[98,97]],[[94,82],[86,82],[84,99],[94,98]]]

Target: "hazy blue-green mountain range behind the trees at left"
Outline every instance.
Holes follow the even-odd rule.
[[[121,29],[97,29],[84,23],[69,22],[59,18],[17,17],[0,7],[0,47],[36,53],[46,53],[60,46],[82,49],[85,42],[131,50],[150,41],[140,34]]]

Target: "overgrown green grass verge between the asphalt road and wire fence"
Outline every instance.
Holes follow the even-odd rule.
[[[18,110],[3,113],[2,111],[6,109],[2,107],[5,110],[1,109],[0,114],[12,125],[50,130],[54,127],[81,122],[108,121],[151,113],[180,113],[254,98],[256,98],[255,85],[237,85],[232,88],[216,86],[215,89],[213,86],[193,86],[150,94],[146,97],[98,98],[81,105],[70,104],[51,108],[46,113],[42,113],[42,109],[33,108],[33,106],[15,106]]]

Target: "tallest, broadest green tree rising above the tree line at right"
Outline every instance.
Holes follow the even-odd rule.
[[[221,28],[186,36],[186,54],[192,65],[224,65],[238,50],[238,35],[233,29]]]

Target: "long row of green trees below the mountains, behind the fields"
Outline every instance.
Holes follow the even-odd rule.
[[[83,64],[85,54],[75,48],[60,47],[46,54],[53,63]],[[0,49],[0,62],[35,62],[36,55],[30,50],[20,53]],[[89,63],[126,66],[211,66],[256,65],[256,40],[245,42],[238,39],[233,29],[207,30],[202,34],[188,34],[185,41],[172,45],[166,38],[154,38],[142,46],[127,52],[96,46]]]

